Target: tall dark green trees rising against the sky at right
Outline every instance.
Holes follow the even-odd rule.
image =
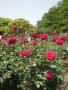
[[[37,22],[39,32],[68,32],[68,0],[60,1]]]

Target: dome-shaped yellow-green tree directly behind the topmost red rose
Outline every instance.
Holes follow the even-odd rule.
[[[12,32],[12,26],[16,25],[18,27],[19,33],[24,33],[24,32],[28,32],[28,31],[33,31],[35,29],[35,27],[33,25],[31,25],[27,20],[25,19],[15,19],[12,22],[9,23],[9,29],[8,32]]]

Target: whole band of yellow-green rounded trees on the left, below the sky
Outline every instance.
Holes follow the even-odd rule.
[[[25,19],[19,18],[11,20],[9,18],[0,18],[0,34],[13,33],[12,26],[14,25],[18,27],[19,33],[36,30],[36,26],[33,26]]]

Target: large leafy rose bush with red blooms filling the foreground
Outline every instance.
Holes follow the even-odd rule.
[[[35,36],[35,32],[31,33]],[[28,41],[25,36],[0,42],[0,84],[32,90],[56,90],[64,82],[63,40],[48,41],[48,34]],[[59,44],[59,45],[57,45]],[[63,48],[62,48],[63,47]]]

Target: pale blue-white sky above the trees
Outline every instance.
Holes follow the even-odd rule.
[[[0,17],[24,18],[36,25],[49,8],[61,0],[0,0]]]

